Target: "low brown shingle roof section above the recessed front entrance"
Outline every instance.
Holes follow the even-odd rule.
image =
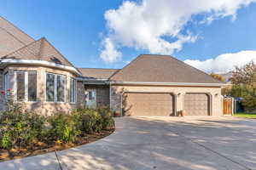
[[[119,69],[96,69],[96,68],[79,68],[83,77],[91,79],[108,79]]]

